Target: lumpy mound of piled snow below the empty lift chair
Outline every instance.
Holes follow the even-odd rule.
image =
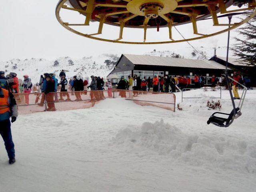
[[[232,169],[256,174],[256,142],[241,137],[216,134],[186,134],[176,126],[144,122],[140,127],[126,127],[112,139],[113,145],[140,157],[158,153],[172,163]],[[148,150],[147,150],[148,149]]]

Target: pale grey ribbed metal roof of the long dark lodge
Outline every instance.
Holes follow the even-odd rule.
[[[146,55],[124,54],[133,64],[137,65],[154,65],[170,67],[189,67],[189,68],[206,68],[206,69],[225,69],[221,64],[210,60],[180,59],[172,57],[157,57]]]

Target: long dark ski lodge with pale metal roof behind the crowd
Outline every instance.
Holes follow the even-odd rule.
[[[210,79],[212,75],[220,77],[224,73],[225,66],[214,60],[194,60],[172,57],[158,57],[146,55],[122,54],[114,70],[107,78],[116,77],[113,82],[118,82],[121,76],[128,79],[130,76],[151,77],[157,76],[190,76],[202,75]],[[111,75],[112,74],[112,75]],[[111,75],[111,76],[110,76]],[[208,81],[207,83],[208,84]],[[210,84],[210,82],[209,82]]]

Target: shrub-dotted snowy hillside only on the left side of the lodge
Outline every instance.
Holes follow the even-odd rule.
[[[55,73],[58,77],[62,69],[64,69],[67,78],[74,75],[83,78],[90,77],[91,75],[105,77],[112,70],[112,65],[110,65],[110,68],[106,66],[106,63],[104,63],[105,60],[114,62],[116,59],[118,59],[116,55],[109,54],[102,54],[98,57],[83,57],[77,60],[70,57],[61,57],[56,60],[46,60],[43,58],[31,58],[25,60],[12,59],[0,62],[0,70],[6,71],[6,74],[9,72],[16,72],[18,78],[22,78],[24,74],[28,74],[34,83],[38,82],[40,75],[46,72]]]

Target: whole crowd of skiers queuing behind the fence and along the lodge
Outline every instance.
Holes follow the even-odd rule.
[[[83,80],[80,76],[73,76],[68,81],[66,79],[66,74],[64,70],[62,70],[59,74],[60,80],[56,78],[54,73],[44,73],[40,77],[40,81],[37,84],[39,87],[38,93],[42,92],[42,98],[39,102],[39,94],[36,97],[36,104],[43,106],[45,100],[48,103],[49,111],[56,110],[54,106],[54,102],[56,101],[64,101],[64,97],[66,97],[65,101],[70,101],[70,95],[68,93],[69,90],[72,91],[72,95],[76,96],[76,101],[82,100],[81,94],[87,94],[87,90],[108,90],[108,96],[112,97],[112,83],[110,80],[104,81],[103,78],[99,76],[91,76],[91,81],[89,84],[89,79],[85,78]],[[11,72],[5,76],[4,71],[0,71],[0,85],[2,88],[6,90],[10,90],[12,93],[19,93],[19,89],[23,89],[24,93],[30,93],[32,90],[32,82],[28,75],[24,75],[24,80],[22,83],[18,82],[17,74]],[[218,86],[226,86],[227,82],[224,76],[220,78],[216,78],[214,75],[212,77],[207,77],[207,82],[212,85],[212,87]],[[234,78],[241,84],[245,84],[248,88],[251,88],[250,79],[247,77],[240,77],[237,72],[234,72]],[[193,83],[193,84],[192,84]],[[239,98],[238,94],[236,94],[238,85],[236,82],[233,83],[233,92],[234,97]],[[184,88],[200,88],[206,84],[206,78],[202,75],[194,75],[194,78],[191,79],[190,76],[154,76],[141,78],[140,76],[135,75],[134,77],[128,76],[126,80],[124,76],[122,76],[118,82],[117,89],[120,90],[133,90],[133,91],[150,91],[152,88],[153,92],[176,92],[179,88],[183,90]],[[236,86],[234,86],[236,85]],[[60,95],[58,98],[57,91],[60,90]],[[81,92],[83,91],[83,92]],[[52,94],[49,94],[52,93]],[[48,95],[48,96],[47,96]],[[103,92],[98,94],[90,92],[90,97],[92,99],[101,99],[104,98]],[[29,94],[24,94],[25,104],[29,104]]]

